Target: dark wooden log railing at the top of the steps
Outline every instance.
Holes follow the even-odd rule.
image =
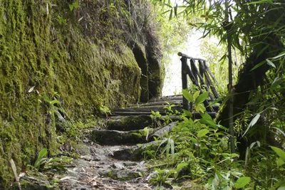
[[[196,85],[197,88],[199,88],[201,93],[202,89],[207,90],[207,92],[209,92],[209,98],[211,100],[214,100],[214,98],[219,98],[219,94],[217,93],[217,90],[214,87],[214,83],[217,84],[217,80],[214,78],[214,75],[211,70],[209,70],[206,60],[201,58],[192,58],[181,52],[178,53],[178,56],[182,57],[180,59],[182,63],[182,89],[188,88],[188,75],[192,80],[192,83]],[[190,60],[190,66],[187,64],[187,60]],[[197,65],[199,67],[199,70],[197,68]],[[214,83],[211,78],[212,80],[214,80]],[[212,112],[211,107],[209,107],[208,100],[204,101],[204,105],[207,109],[207,112]],[[190,104],[185,97],[183,97],[183,109],[190,110]]]

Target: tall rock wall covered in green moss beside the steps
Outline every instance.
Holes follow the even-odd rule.
[[[13,179],[9,159],[19,172],[41,148],[56,152],[58,107],[85,118],[139,100],[127,43],[146,46],[145,10],[139,0],[0,0],[0,189]]]

